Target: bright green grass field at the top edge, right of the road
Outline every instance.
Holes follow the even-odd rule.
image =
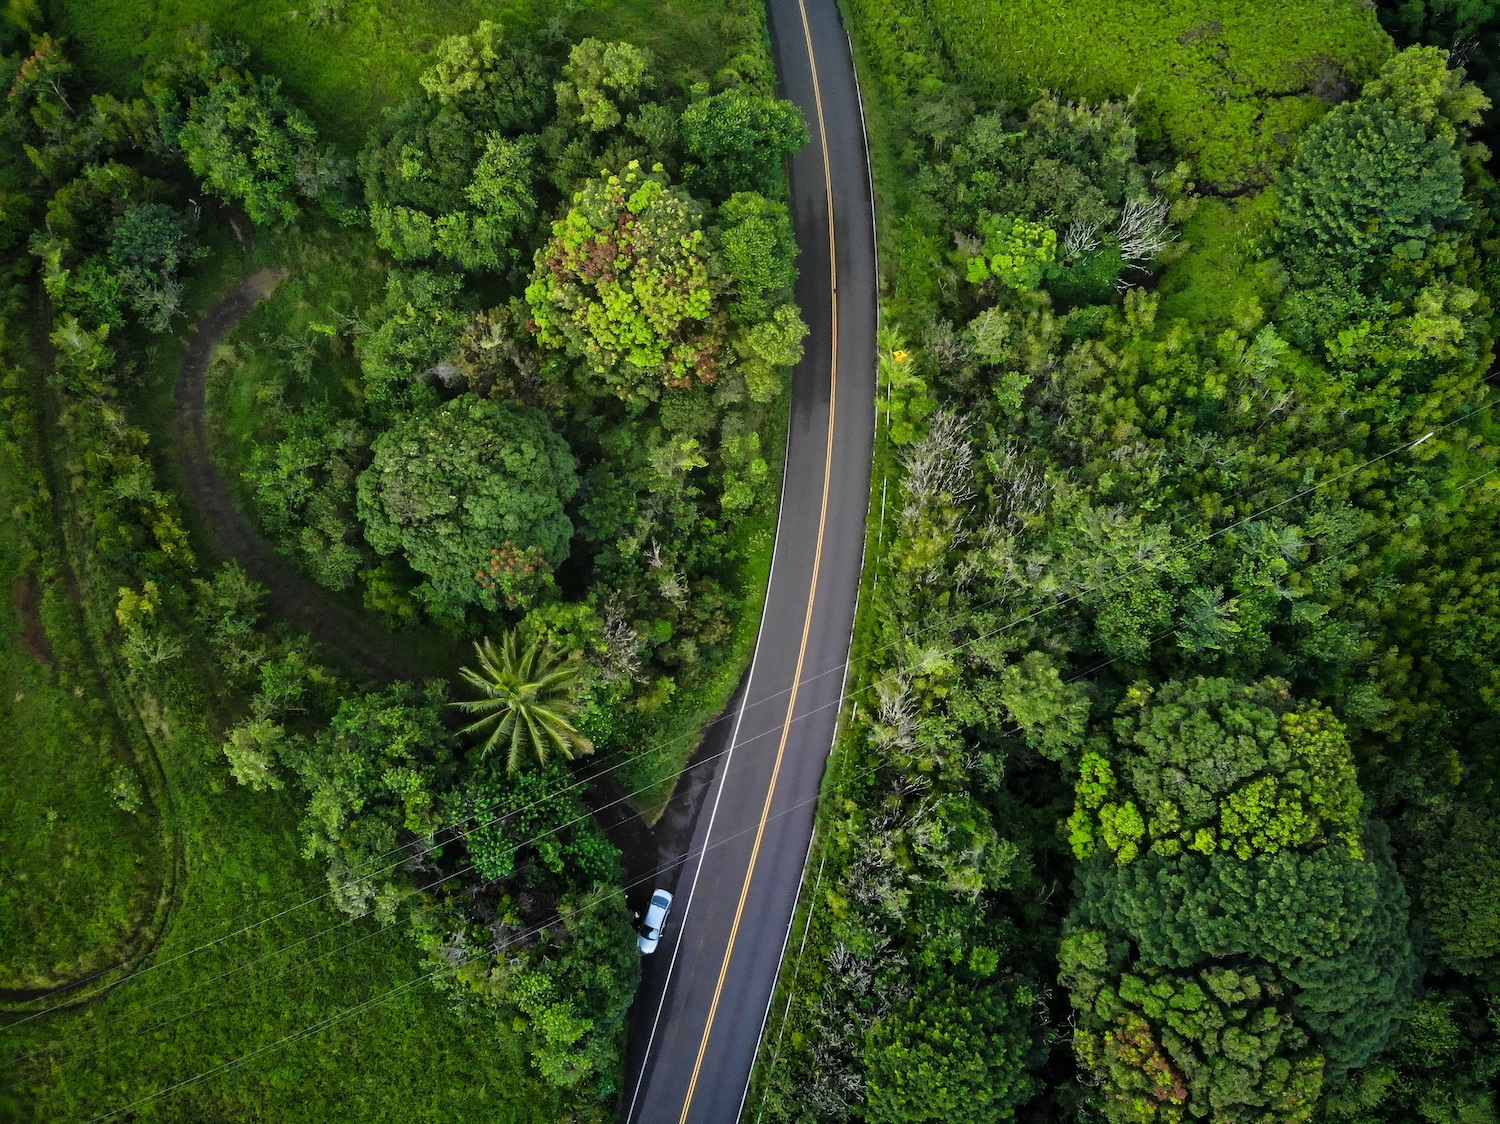
[[[1292,140],[1390,54],[1360,0],[927,0],[958,72],[1020,101],[1138,92],[1148,149],[1221,189],[1264,183]]]

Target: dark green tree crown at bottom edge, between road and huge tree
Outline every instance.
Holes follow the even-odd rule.
[[[866,1034],[866,1119],[1008,1119],[1034,1092],[1020,1068],[1030,1002],[1026,992],[950,989],[876,1019]]]

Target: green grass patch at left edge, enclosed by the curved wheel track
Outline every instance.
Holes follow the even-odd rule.
[[[170,863],[130,744],[82,659],[76,608],[39,576],[10,515],[26,500],[0,450],[0,989],[57,986],[128,957],[160,920]],[[117,774],[141,797],[134,815],[111,795]]]

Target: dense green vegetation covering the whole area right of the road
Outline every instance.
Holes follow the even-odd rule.
[[[849,6],[882,519],[752,1118],[1494,1119],[1490,99],[1042,8]]]

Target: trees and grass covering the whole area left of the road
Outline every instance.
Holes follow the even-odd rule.
[[[742,671],[806,335],[759,8],[48,15],[0,42],[6,1112],[609,1118],[588,774],[652,816]],[[210,455],[302,600],[174,422],[252,272]]]

